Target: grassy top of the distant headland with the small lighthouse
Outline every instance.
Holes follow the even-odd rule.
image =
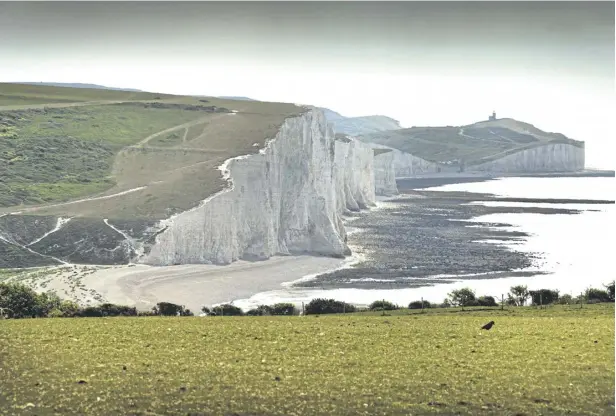
[[[462,161],[467,165],[489,162],[546,144],[584,146],[583,142],[569,139],[560,133],[547,133],[531,124],[508,118],[460,127],[389,130],[364,135],[361,139],[393,147],[432,162]]]

